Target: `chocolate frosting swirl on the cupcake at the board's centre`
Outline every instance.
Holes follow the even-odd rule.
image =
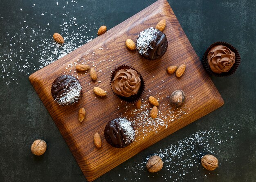
[[[141,79],[137,71],[121,69],[115,74],[111,87],[117,95],[129,97],[137,94],[141,86]]]

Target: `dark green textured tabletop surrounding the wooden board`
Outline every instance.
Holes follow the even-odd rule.
[[[63,6],[56,6],[56,2],[1,0],[0,18],[3,18],[0,19],[0,55],[3,54],[5,33],[19,33],[18,17],[24,16],[24,13],[55,12],[57,21],[58,19],[61,21]],[[88,21],[95,22],[96,27],[105,24],[110,29],[153,2],[155,0],[84,0],[78,1],[69,10],[74,17],[86,17]],[[207,47],[216,41],[229,42],[239,50],[241,64],[235,75],[225,78],[212,77],[225,105],[142,151],[95,182],[124,181],[124,176],[126,181],[134,181],[132,174],[126,172],[124,167],[132,166],[134,161],[141,161],[159,149],[197,131],[213,127],[224,132],[225,128],[229,127],[229,123],[237,124],[235,129],[239,129],[239,132],[234,141],[223,145],[223,151],[226,152],[218,153],[218,158],[220,162],[223,158],[228,158],[235,164],[229,161],[222,162],[216,169],[218,171],[210,175],[200,166],[194,167],[193,172],[186,174],[183,180],[191,181],[192,177],[198,177],[197,181],[256,181],[256,1],[168,0],[168,2],[200,58]],[[31,8],[33,3],[36,4],[34,9]],[[59,4],[61,3],[64,2],[59,0]],[[20,8],[23,11],[20,11]],[[72,10],[76,12],[71,12]],[[59,17],[56,12],[60,12]],[[52,17],[49,18],[51,19]],[[37,24],[45,25],[48,19],[45,16],[44,19],[37,21]],[[30,24],[30,27],[32,26]],[[52,32],[58,32],[58,27],[55,29],[51,26],[51,30],[46,33],[46,38],[51,37]],[[95,34],[96,31],[88,32],[88,35]],[[26,51],[29,52],[29,48]],[[38,65],[36,61],[34,64]],[[18,84],[12,82],[9,85],[5,83],[5,79],[0,78],[0,181],[86,181],[52,118],[29,83],[28,77],[29,75],[24,73],[17,73],[15,78],[18,79],[16,81]],[[37,138],[45,140],[48,147],[46,153],[39,157],[34,156],[30,151],[31,143]],[[120,176],[117,175],[119,173]],[[204,174],[208,177],[200,178]],[[166,175],[170,174],[166,173]],[[162,178],[156,176],[157,174],[153,177],[145,171],[141,172],[140,180],[162,181]],[[175,173],[172,176],[173,179],[177,179]]]

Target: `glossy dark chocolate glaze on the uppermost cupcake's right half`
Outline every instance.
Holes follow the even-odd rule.
[[[154,39],[150,42],[151,48],[148,49],[148,53],[143,54],[143,56],[147,59],[155,59],[156,56],[160,56],[162,54],[165,41],[166,35],[164,35],[164,33],[161,35],[157,33]]]

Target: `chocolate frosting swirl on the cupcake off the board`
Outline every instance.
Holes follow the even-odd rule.
[[[222,73],[231,69],[235,63],[236,55],[226,46],[218,45],[209,50],[207,59],[213,72]]]

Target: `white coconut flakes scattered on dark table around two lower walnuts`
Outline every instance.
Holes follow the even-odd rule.
[[[203,180],[211,175],[217,175],[214,171],[207,171],[205,173],[194,173],[196,169],[201,170],[202,166],[200,159],[206,154],[212,154],[218,158],[219,153],[225,153],[226,148],[223,147],[227,143],[232,143],[236,140],[235,136],[239,132],[239,125],[229,123],[227,130],[218,131],[217,129],[210,128],[204,131],[195,132],[177,142],[160,148],[155,153],[150,154],[146,158],[141,159],[140,162],[132,161],[132,164],[124,167],[124,172],[119,173],[117,181],[132,180],[141,181],[141,175],[148,174],[146,169],[146,162],[150,156],[160,156],[164,162],[164,167],[158,173],[148,175],[148,179],[157,178],[161,182],[171,181],[190,181],[190,180]],[[216,146],[217,144],[217,146]],[[235,164],[234,160],[237,157],[235,154],[231,155],[229,161],[223,158],[219,160],[219,165],[227,163],[229,165]],[[132,177],[131,177],[132,176]],[[129,179],[130,178],[130,179]],[[144,178],[146,180],[146,178]],[[113,180],[115,182],[115,180]]]

